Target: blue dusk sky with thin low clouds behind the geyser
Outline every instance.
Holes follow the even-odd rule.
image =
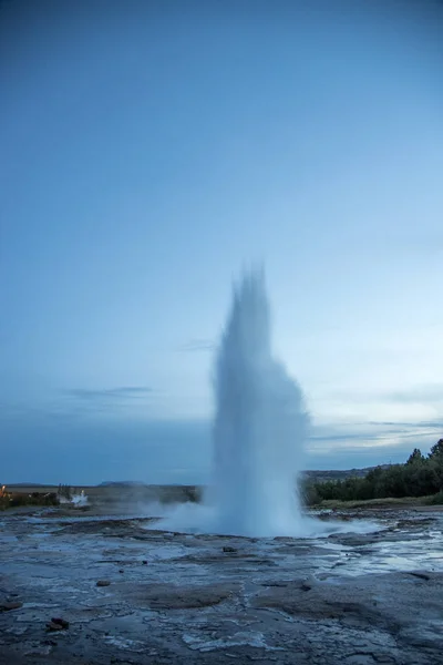
[[[363,4],[1,6],[6,481],[204,481],[257,259],[309,467],[442,434],[443,17]]]

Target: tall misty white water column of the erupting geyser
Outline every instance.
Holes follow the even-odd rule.
[[[262,270],[234,287],[214,381],[210,531],[301,535],[296,483],[309,417],[297,382],[272,357]]]

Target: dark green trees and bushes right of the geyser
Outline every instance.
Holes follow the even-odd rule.
[[[415,448],[405,464],[371,469],[363,478],[310,483],[306,488],[309,505],[321,501],[363,501],[403,497],[434,495],[443,503],[443,439],[427,456]]]

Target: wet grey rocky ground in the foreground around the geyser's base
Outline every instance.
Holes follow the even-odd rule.
[[[380,530],[367,535],[350,522],[329,538],[255,540],[3,513],[0,663],[440,665],[443,513],[371,519]]]

